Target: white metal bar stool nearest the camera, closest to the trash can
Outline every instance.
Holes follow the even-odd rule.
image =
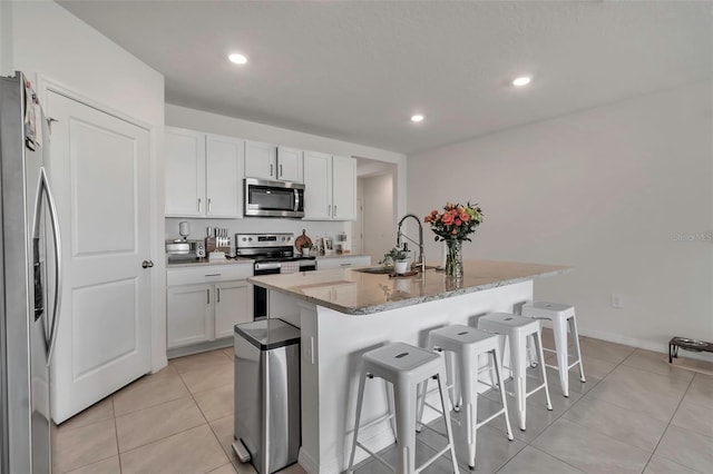
[[[348,472],[351,474],[354,466],[354,454],[356,446],[372,455],[377,461],[385,465],[399,474],[411,474],[422,471],[424,467],[433,463],[440,456],[450,451],[453,463],[453,473],[458,473],[458,463],[456,461],[456,450],[453,446],[453,435],[451,431],[450,416],[448,416],[446,393],[446,364],[443,358],[430,350],[411,346],[403,343],[388,344],[378,349],[370,350],[362,356],[363,368],[359,381],[359,397],[356,399],[356,419],[354,422],[354,440],[352,442],[352,454],[349,460]],[[399,452],[398,468],[389,465],[381,456],[370,451],[358,440],[359,422],[361,419],[362,403],[364,399],[364,386],[367,378],[379,377],[393,385],[394,394],[394,412],[387,415],[385,418],[395,417],[395,438]],[[448,445],[428,460],[423,465],[416,467],[416,408],[418,398],[418,386],[423,381],[436,378],[441,396],[441,406],[443,408],[443,418],[446,419],[446,437]],[[385,419],[378,418],[361,428],[369,427]]]

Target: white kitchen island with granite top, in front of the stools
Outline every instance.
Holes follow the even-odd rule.
[[[533,299],[534,279],[568,267],[471,260],[465,276],[427,269],[411,277],[334,269],[248,278],[268,290],[268,315],[301,328],[302,447],[310,473],[346,468],[354,428],[361,355],[389,342],[424,346],[429,330],[476,325],[491,312],[514,312]],[[362,422],[388,411],[383,384],[367,384]],[[432,416],[432,414],[431,414]],[[379,450],[393,443],[389,423],[363,429]],[[358,460],[365,453],[358,452]]]

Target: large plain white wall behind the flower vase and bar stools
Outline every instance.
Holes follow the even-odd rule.
[[[410,156],[409,205],[480,203],[467,258],[575,267],[535,290],[575,304],[585,335],[656,350],[673,335],[713,340],[711,92],[692,85]]]

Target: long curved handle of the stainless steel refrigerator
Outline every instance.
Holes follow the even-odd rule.
[[[59,320],[59,306],[61,303],[62,292],[62,271],[61,271],[61,239],[59,235],[59,219],[57,217],[57,206],[55,205],[55,198],[49,187],[49,180],[47,179],[47,171],[45,167],[40,168],[40,186],[37,196],[37,209],[35,211],[35,238],[39,238],[40,234],[40,218],[42,210],[42,194],[47,197],[49,217],[52,224],[52,236],[55,244],[55,303],[52,304],[52,318],[49,340],[46,340],[47,346],[47,365],[52,358],[52,352],[55,349],[55,343],[57,342],[57,323]],[[49,323],[49,322],[48,322]]]

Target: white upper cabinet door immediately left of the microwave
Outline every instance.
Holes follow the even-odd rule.
[[[206,136],[206,215],[243,217],[243,140]]]

